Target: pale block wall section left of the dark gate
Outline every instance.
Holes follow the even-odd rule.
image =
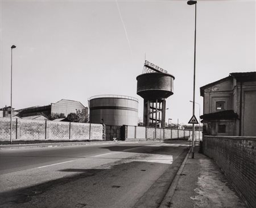
[[[102,140],[102,124],[13,120],[13,141]],[[10,141],[10,118],[0,118],[0,141]]]

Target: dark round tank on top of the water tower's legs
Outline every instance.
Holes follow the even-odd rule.
[[[145,73],[137,77],[137,94],[146,100],[168,98],[174,94],[175,77],[167,73]]]

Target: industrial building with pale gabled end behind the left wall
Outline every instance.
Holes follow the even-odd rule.
[[[84,111],[88,117],[88,107],[85,107],[79,101],[71,101],[68,99],[61,99],[60,101],[51,103],[51,105],[47,106],[27,107],[26,109],[19,109],[16,111],[18,112],[19,117],[31,117],[34,115],[44,115],[49,117],[53,114],[64,114],[65,117],[67,117],[69,113],[76,113],[78,110]]]

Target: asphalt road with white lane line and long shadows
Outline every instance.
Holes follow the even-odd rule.
[[[1,150],[0,207],[158,207],[185,143]]]

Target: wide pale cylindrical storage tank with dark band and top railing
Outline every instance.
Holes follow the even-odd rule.
[[[124,95],[97,95],[88,99],[90,123],[138,126],[138,99]]]

